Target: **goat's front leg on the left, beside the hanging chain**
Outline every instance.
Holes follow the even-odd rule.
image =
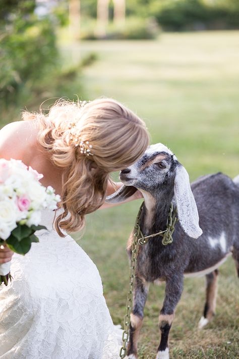
[[[149,283],[136,276],[134,285],[133,310],[130,315],[130,339],[127,345],[129,359],[136,359],[137,343],[143,324],[144,306],[149,290]]]

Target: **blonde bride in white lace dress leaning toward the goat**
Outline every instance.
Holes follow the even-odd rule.
[[[13,281],[0,287],[1,359],[116,359],[118,344],[94,263],[67,232],[104,208],[115,187],[109,173],[135,162],[148,145],[145,124],[119,102],[58,101],[48,115],[25,112],[0,131],[0,157],[22,160],[61,194],[61,208],[44,210],[25,255],[12,259]],[[138,194],[139,196],[139,194]],[[131,199],[137,198],[137,194]],[[13,255],[13,257],[12,257]]]

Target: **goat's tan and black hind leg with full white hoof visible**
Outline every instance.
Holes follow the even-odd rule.
[[[198,328],[202,329],[207,325],[215,315],[216,298],[217,298],[217,281],[218,270],[206,275],[206,302],[204,306],[203,316],[201,317]]]

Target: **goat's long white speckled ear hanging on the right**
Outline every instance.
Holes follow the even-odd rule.
[[[188,172],[182,165],[176,169],[174,194],[177,215],[183,230],[189,237],[198,238],[203,233],[199,227],[198,209],[191,190]]]

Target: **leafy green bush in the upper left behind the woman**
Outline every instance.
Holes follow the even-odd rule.
[[[67,3],[37,15],[35,0],[2,0],[0,7],[0,123],[20,118],[21,110],[48,107],[58,97],[84,97],[82,68],[95,60],[87,54],[65,61],[57,30],[68,21]]]

